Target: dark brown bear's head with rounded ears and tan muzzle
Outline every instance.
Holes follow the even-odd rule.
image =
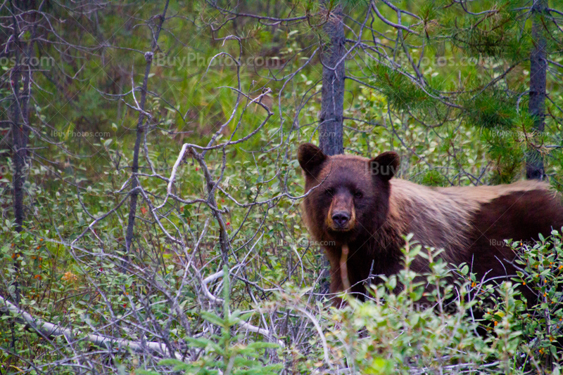
[[[373,159],[353,155],[324,154],[304,143],[298,162],[305,175],[303,216],[317,241],[336,244],[371,237],[384,223],[389,210],[393,178],[399,166],[396,152]]]

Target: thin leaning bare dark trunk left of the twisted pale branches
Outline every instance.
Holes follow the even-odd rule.
[[[131,249],[131,244],[133,242],[133,229],[135,226],[135,215],[137,215],[137,197],[139,195],[139,179],[137,178],[136,174],[139,172],[139,149],[141,148],[141,139],[143,133],[145,131],[144,123],[144,110],[145,110],[145,102],[146,102],[146,86],[148,84],[148,74],[151,72],[151,65],[153,63],[153,53],[156,51],[158,36],[160,35],[160,30],[163,27],[163,22],[165,20],[166,11],[168,8],[168,0],[164,6],[164,10],[162,15],[160,15],[160,21],[158,22],[158,27],[154,34],[154,39],[151,43],[151,51],[145,53],[145,74],[143,78],[143,86],[141,86],[141,100],[139,102],[139,119],[137,120],[137,138],[135,139],[135,146],[133,149],[133,165],[132,165],[132,173],[133,173],[133,180],[132,180],[132,190],[131,193],[131,201],[129,202],[129,218],[127,219],[127,233],[125,235],[125,250],[127,251],[127,255],[129,255],[129,250]]]

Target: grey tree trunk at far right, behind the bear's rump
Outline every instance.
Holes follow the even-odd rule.
[[[542,18],[548,0],[534,0],[532,6],[532,39],[534,48],[530,53],[530,104],[529,113],[533,126],[543,132],[545,126],[545,86],[548,61],[545,60],[545,36]],[[538,150],[529,150],[526,160],[526,178],[542,180],[545,177],[543,157]]]

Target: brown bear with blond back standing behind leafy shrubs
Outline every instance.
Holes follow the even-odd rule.
[[[305,174],[303,219],[312,237],[327,244],[331,293],[343,291],[344,280],[346,289],[364,298],[363,282],[372,275],[396,274],[408,233],[423,246],[444,249],[444,261],[467,263],[478,279],[510,278],[516,254],[504,239],[531,242],[563,225],[559,196],[538,180],[426,187],[393,178],[396,152],[374,159],[327,156],[310,143],[299,147],[298,162]],[[424,272],[426,264],[417,257],[411,268]],[[521,291],[529,304],[537,301],[529,287]]]

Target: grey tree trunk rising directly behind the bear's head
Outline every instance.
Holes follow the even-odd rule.
[[[342,6],[327,8],[330,12],[324,32],[330,38],[323,47],[322,103],[320,116],[319,147],[327,155],[343,154],[342,121],[344,112],[344,22]]]

